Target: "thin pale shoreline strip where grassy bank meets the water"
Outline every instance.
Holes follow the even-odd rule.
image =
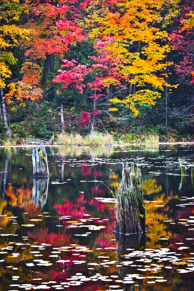
[[[103,146],[103,147],[112,147],[112,146],[176,146],[176,145],[194,145],[194,142],[159,142],[157,144],[145,144],[145,143],[126,143],[126,144],[112,144],[112,145],[107,145],[107,146]],[[36,145],[36,144],[32,144],[32,145],[16,145],[16,146],[0,146],[0,148],[15,148],[15,147],[34,147],[34,146],[40,146],[40,144]],[[47,145],[47,144],[42,144],[42,146],[45,147],[99,147],[99,146],[75,146],[75,145]],[[100,146],[102,147],[102,146]]]

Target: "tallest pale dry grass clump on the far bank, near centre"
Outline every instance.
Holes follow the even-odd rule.
[[[113,136],[109,133],[92,133],[81,136],[79,133],[62,134],[57,137],[56,144],[64,146],[109,146],[113,145]]]

